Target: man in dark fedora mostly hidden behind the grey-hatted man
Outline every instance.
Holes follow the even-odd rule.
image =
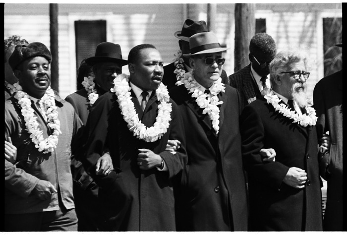
[[[174,33],[174,36],[179,39],[179,51],[174,54],[175,59],[172,63],[164,66],[163,83],[170,89],[175,86],[175,83],[185,72],[191,71],[189,60],[182,57],[183,54],[189,54],[189,37],[196,34],[208,32],[206,22],[203,20],[193,21],[186,19],[181,31]],[[222,70],[222,82],[229,84],[228,76],[225,70]]]

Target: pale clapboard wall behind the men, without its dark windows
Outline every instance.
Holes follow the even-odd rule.
[[[217,4],[215,32],[221,44],[230,48],[224,69],[234,67],[234,3]],[[123,58],[141,43],[151,43],[161,52],[165,64],[178,50],[173,33],[181,30],[185,16],[207,21],[207,4],[58,4],[59,94],[62,98],[76,89],[75,20],[106,20],[107,41],[121,46]],[[278,51],[306,51],[311,62],[308,94],[323,77],[323,17],[342,17],[341,3],[258,3],[255,18],[266,19],[266,32]],[[29,42],[49,47],[49,4],[4,6],[4,36],[18,34]],[[127,67],[123,67],[127,73]]]

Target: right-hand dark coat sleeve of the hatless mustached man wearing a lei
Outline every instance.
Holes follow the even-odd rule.
[[[183,170],[183,167],[187,163],[183,119],[179,113],[176,103],[174,103],[173,101],[172,101],[172,108],[173,110],[171,112],[172,120],[171,120],[169,139],[178,140],[181,142],[181,145],[180,145],[180,148],[177,149],[175,155],[173,155],[170,151],[164,151],[159,154],[163,158],[163,160],[165,161],[165,164],[168,167],[170,178],[180,173]]]

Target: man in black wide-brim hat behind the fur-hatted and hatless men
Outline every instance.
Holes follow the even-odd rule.
[[[86,59],[85,62],[92,66],[93,74],[84,77],[83,89],[65,98],[72,104],[84,125],[91,106],[99,96],[114,86],[113,80],[116,75],[121,74],[122,66],[127,64],[127,60],[122,59],[118,44],[103,42],[97,46],[95,56]],[[99,159],[98,165],[100,168],[97,169],[98,174],[106,175],[113,170],[112,160],[108,154]],[[98,206],[98,186],[84,171],[78,160],[72,159],[71,170],[74,179],[73,192],[78,217],[78,231],[98,231],[98,221],[101,218],[100,213],[102,213]]]

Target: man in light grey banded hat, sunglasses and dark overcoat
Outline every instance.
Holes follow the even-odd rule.
[[[240,98],[222,82],[225,59],[212,32],[189,38],[192,71],[170,95],[183,117],[188,163],[177,193],[178,231],[247,231]]]

